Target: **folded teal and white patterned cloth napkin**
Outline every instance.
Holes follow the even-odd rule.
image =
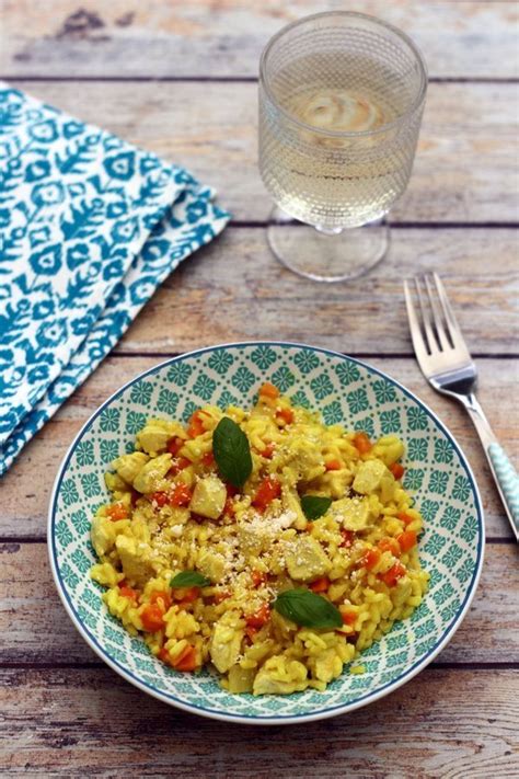
[[[0,476],[223,229],[214,194],[0,82]]]

